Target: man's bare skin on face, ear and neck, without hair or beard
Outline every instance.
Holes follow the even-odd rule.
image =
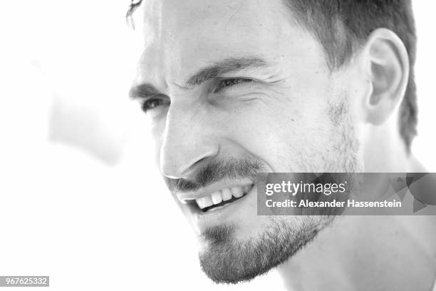
[[[155,106],[147,116],[163,176],[194,180],[214,160],[247,157],[265,172],[422,170],[398,133],[409,68],[391,31],[374,31],[349,63],[331,71],[318,41],[293,23],[281,1],[150,0],[142,6],[144,47],[134,88],[146,83],[155,91],[147,97]],[[235,58],[263,65],[187,83],[202,68]],[[235,78],[236,84],[217,90],[223,79]],[[223,179],[219,186],[241,180]],[[194,227],[200,252],[212,250],[203,234],[215,226],[234,225],[232,240],[242,244],[271,230],[271,218],[256,216],[255,195],[208,219],[180,202],[184,193],[172,195]],[[279,220],[296,229],[305,222]],[[323,231],[279,266],[290,289],[430,287],[436,238],[427,230],[434,218],[344,216],[328,227],[323,218],[311,223]],[[416,247],[416,238],[425,246]],[[399,255],[405,251],[416,253]],[[387,275],[373,280],[381,270]],[[394,280],[398,273],[404,282]]]

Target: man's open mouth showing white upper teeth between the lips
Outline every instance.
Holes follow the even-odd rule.
[[[203,213],[223,208],[243,198],[253,188],[254,184],[241,187],[222,188],[210,195],[189,200],[187,203],[198,208]]]

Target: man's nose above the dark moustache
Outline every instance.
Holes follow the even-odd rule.
[[[193,178],[219,151],[213,123],[198,108],[170,106],[160,148],[160,171],[167,178]]]

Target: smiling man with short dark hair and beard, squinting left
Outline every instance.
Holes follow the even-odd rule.
[[[144,47],[130,95],[151,120],[160,171],[212,280],[278,267],[289,289],[430,290],[431,216],[256,215],[256,173],[423,170],[410,153],[410,1],[135,9]]]

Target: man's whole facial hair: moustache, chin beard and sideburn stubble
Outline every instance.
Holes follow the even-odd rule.
[[[360,172],[363,166],[358,159],[358,140],[355,138],[351,115],[348,114],[346,98],[331,105],[328,113],[333,126],[331,134],[326,136],[338,138],[331,143],[323,143],[323,165],[306,168],[301,172]],[[301,156],[310,155],[302,153]],[[299,162],[299,165],[313,165],[311,160]],[[210,163],[206,169],[200,171],[195,182],[168,179],[167,185],[179,190],[197,189],[226,176],[255,178],[256,172],[259,173],[261,168],[261,162],[248,159]],[[202,270],[217,283],[234,284],[251,280],[289,260],[316,238],[319,231],[331,224],[338,213],[321,210],[321,213],[304,214],[266,217],[267,222],[261,232],[244,239],[237,239],[237,223],[207,228],[202,233],[205,244],[199,252]]]

